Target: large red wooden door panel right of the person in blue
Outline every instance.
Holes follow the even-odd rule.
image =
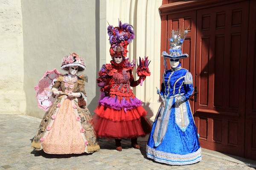
[[[197,11],[195,122],[201,147],[244,157],[249,2]]]

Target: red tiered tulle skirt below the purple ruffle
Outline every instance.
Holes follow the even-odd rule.
[[[103,105],[98,105],[93,115],[94,130],[98,137],[108,139],[137,138],[145,136],[145,129],[151,125],[142,125],[143,116],[147,115],[145,109],[140,105],[137,108],[129,109],[126,112],[122,108],[116,110]],[[144,129],[144,130],[143,130]]]

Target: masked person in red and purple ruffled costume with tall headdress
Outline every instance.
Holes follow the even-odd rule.
[[[134,39],[134,30],[128,23],[108,26],[110,41],[110,64],[102,65],[97,83],[101,88],[99,105],[94,111],[93,120],[98,137],[115,139],[116,150],[122,151],[121,139],[131,139],[131,146],[140,149],[138,136],[145,136],[151,130],[151,124],[145,118],[147,112],[142,101],[137,99],[131,87],[140,84],[140,77],[134,81],[132,71],[134,62],[129,62],[127,46]],[[147,122],[142,125],[142,122]]]

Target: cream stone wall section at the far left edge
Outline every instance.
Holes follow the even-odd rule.
[[[0,114],[26,111],[20,0],[0,1]]]

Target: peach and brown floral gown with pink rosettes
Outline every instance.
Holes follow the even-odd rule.
[[[73,79],[67,82],[65,76],[59,76],[53,86],[61,91],[79,92],[86,96],[84,80]],[[92,124],[92,116],[87,107],[80,108],[77,98],[58,96],[52,103],[36,133],[32,147],[44,149],[46,153],[70,154],[93,153],[99,144]]]

